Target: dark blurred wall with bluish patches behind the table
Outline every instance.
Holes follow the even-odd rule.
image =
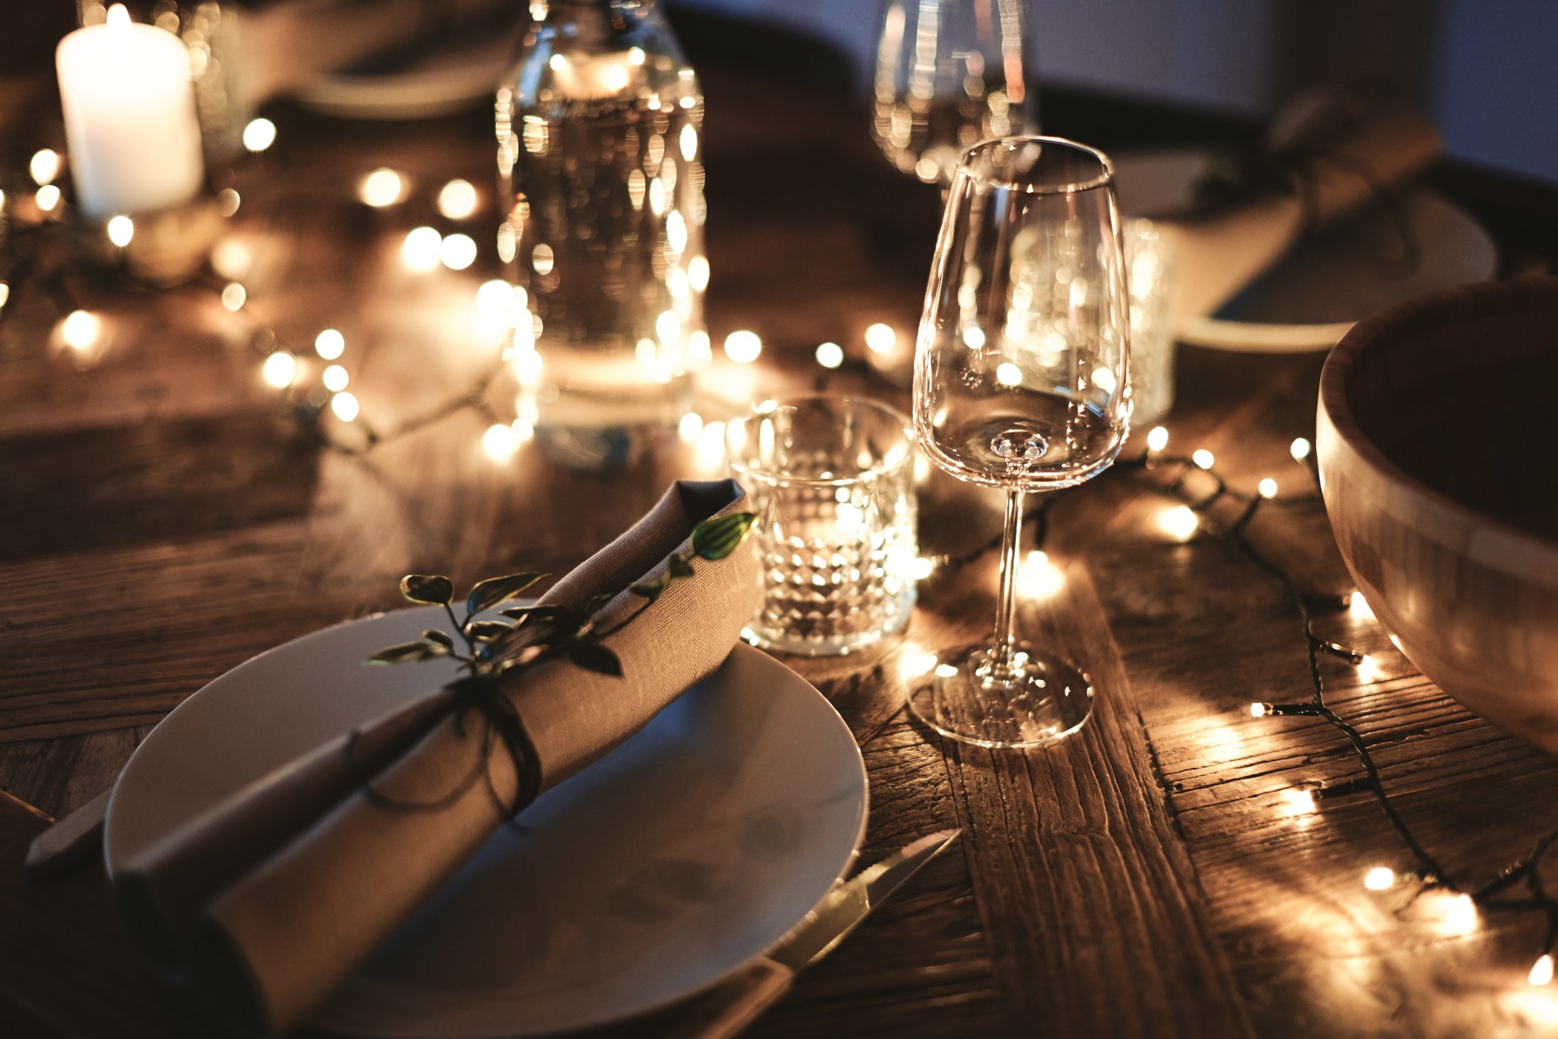
[[[671,0],[874,61],[880,0]],[[1041,83],[1251,117],[1317,83],[1385,84],[1452,157],[1558,181],[1558,0],[1031,0]]]

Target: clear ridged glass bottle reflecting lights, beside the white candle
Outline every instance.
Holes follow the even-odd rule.
[[[654,0],[530,11],[495,111],[520,416],[564,461],[623,464],[709,355],[703,93]]]

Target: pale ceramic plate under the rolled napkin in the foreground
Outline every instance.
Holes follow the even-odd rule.
[[[109,872],[251,779],[447,681],[446,660],[361,664],[441,617],[407,609],[329,628],[179,704],[114,788]],[[500,830],[312,1023],[528,1036],[670,1003],[816,905],[865,821],[848,726],[795,671],[737,645],[718,674]]]

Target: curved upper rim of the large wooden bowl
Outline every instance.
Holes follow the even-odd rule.
[[[1426,327],[1533,312],[1552,312],[1555,329],[1558,329],[1558,277],[1472,282],[1384,310],[1352,326],[1352,330],[1341,336],[1341,341],[1326,357],[1326,365],[1320,372],[1320,407],[1335,428],[1337,438],[1384,480],[1410,492],[1429,509],[1443,514],[1463,528],[1482,528],[1511,548],[1549,556],[1549,562],[1558,565],[1558,542],[1547,541],[1485,512],[1479,512],[1429,488],[1391,461],[1365,436],[1348,402],[1348,383],[1354,365],[1365,350],[1379,343],[1401,340]]]

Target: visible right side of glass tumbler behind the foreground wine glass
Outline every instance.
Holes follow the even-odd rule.
[[[1145,430],[1173,407],[1173,251],[1150,220],[1125,224],[1131,290],[1131,428]]]

